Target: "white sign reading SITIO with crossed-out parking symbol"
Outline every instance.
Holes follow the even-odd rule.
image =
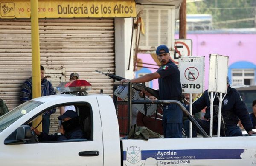
[[[204,56],[181,56],[179,70],[182,93],[204,92]]]

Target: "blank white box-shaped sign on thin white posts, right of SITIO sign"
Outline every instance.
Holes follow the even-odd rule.
[[[213,101],[217,94],[219,99],[218,110],[218,132],[217,136],[220,136],[221,131],[221,107],[222,101],[226,95],[222,97],[222,93],[227,93],[227,71],[228,71],[228,56],[222,56],[218,54],[210,54],[209,65],[209,89],[210,93],[210,137],[212,137],[213,129]],[[218,96],[218,93],[220,95]],[[215,93],[215,94],[214,94]],[[225,132],[225,131],[224,131]]]

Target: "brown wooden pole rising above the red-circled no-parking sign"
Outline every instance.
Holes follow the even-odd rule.
[[[180,5],[180,39],[186,39],[186,0]]]

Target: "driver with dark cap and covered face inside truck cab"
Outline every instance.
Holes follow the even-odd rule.
[[[63,115],[58,117],[61,120],[61,127],[55,134],[46,134],[39,132],[32,127],[39,141],[63,141],[70,139],[85,139],[85,133],[81,130],[79,118],[73,110],[67,110]]]

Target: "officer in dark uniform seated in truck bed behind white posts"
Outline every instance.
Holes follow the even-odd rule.
[[[219,101],[218,98],[215,97],[213,104],[218,106]],[[210,128],[210,100],[208,96],[208,90],[204,92],[204,94],[198,98],[192,105],[193,114],[198,113],[202,109],[206,108],[206,114],[204,115],[205,119],[196,119],[198,124],[204,129],[204,131],[209,135],[209,128]],[[189,106],[186,107],[189,110]],[[243,124],[245,130],[249,135],[255,134],[253,132],[253,125],[250,121],[250,117],[247,111],[247,108],[244,104],[243,99],[239,95],[236,89],[231,88],[229,83],[227,82],[227,94],[222,101],[222,110],[221,115],[224,119],[224,126],[221,129],[221,136],[242,136],[241,129],[237,126],[239,119]],[[213,116],[217,117],[218,115],[213,112]],[[218,127],[218,119],[214,118],[213,121],[213,135],[217,135],[217,127]],[[189,135],[189,120],[184,122],[183,126],[184,130],[186,131],[186,135]],[[192,137],[197,136],[196,128],[193,125],[192,129]]]

